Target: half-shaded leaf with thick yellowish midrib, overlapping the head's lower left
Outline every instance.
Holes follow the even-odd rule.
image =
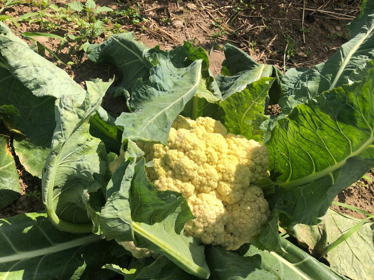
[[[131,184],[131,215],[134,243],[160,253],[188,273],[208,279],[204,246],[183,235],[186,221],[194,218],[181,193],[159,191],[148,181],[144,158],[135,166]],[[187,211],[186,211],[187,209]]]

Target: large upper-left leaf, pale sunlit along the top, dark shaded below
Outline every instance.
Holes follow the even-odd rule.
[[[56,127],[55,100],[65,94],[78,96],[85,90],[64,70],[31,50],[2,22],[0,59],[4,64],[0,67],[0,116],[11,120],[34,145],[50,148]],[[111,84],[98,79],[94,82],[87,83],[87,87],[104,93]]]

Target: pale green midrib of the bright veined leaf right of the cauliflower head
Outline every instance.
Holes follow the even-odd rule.
[[[295,188],[295,187],[303,186],[304,184],[310,183],[312,181],[315,181],[319,178],[324,177],[325,175],[331,174],[332,172],[334,172],[338,168],[342,167],[346,163],[347,159],[352,158],[353,156],[358,156],[359,154],[364,152],[364,150],[368,146],[370,146],[370,144],[373,143],[373,141],[374,141],[374,136],[372,134],[371,137],[359,149],[356,150],[356,152],[350,154],[349,156],[344,158],[342,161],[337,162],[334,165],[330,165],[328,168],[325,168],[322,171],[309,174],[309,175],[307,175],[303,178],[292,180],[292,181],[287,180],[285,183],[281,184],[281,186],[284,187],[285,189],[292,189],[292,188]],[[290,174],[290,176],[291,176],[291,174]]]

